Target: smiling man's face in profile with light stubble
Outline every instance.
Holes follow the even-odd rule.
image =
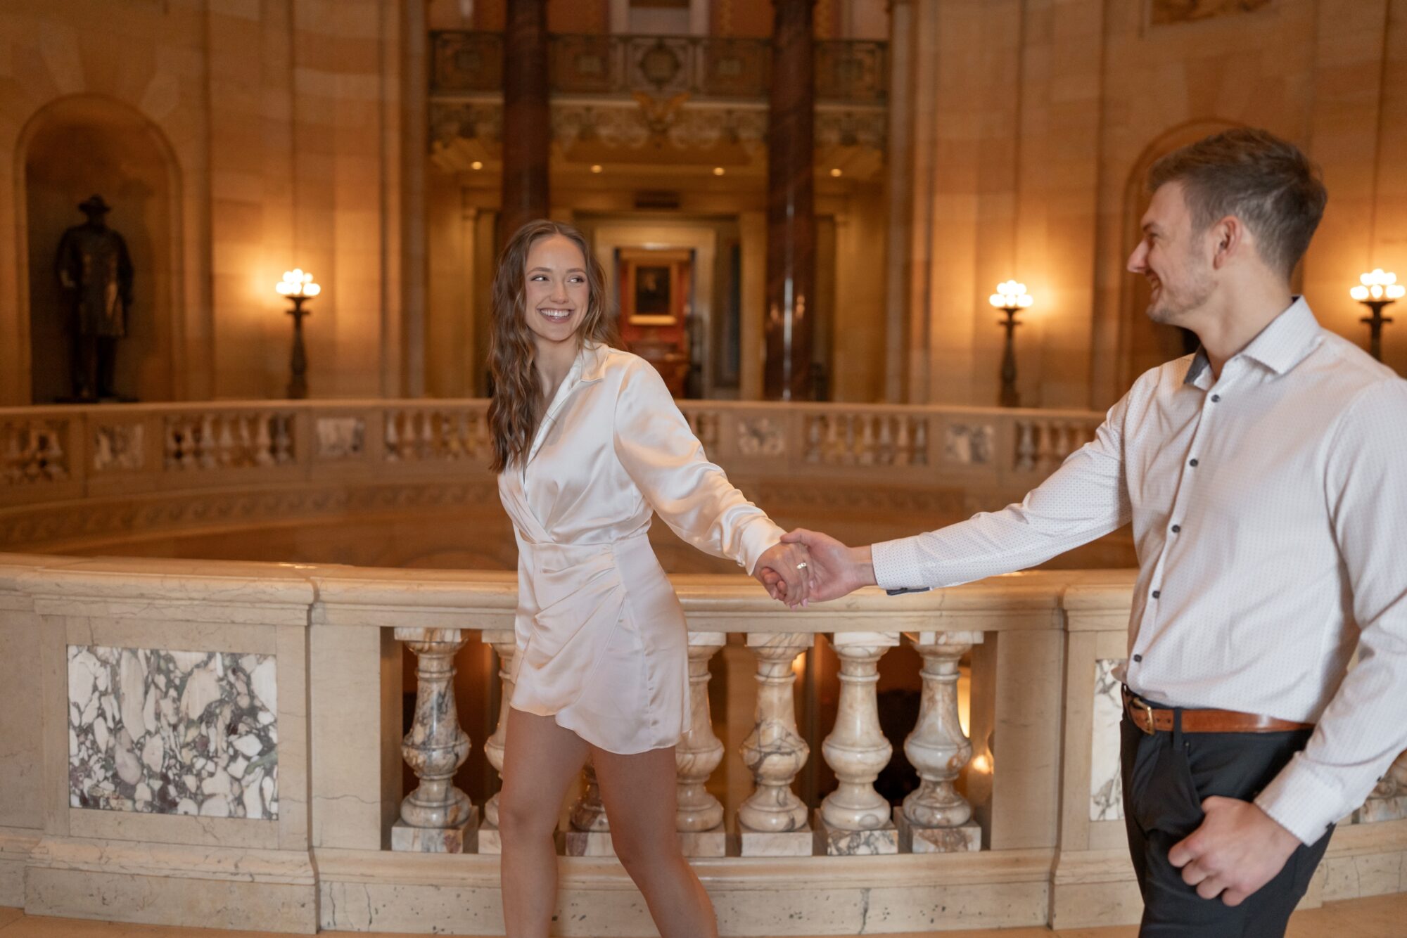
[[[1147,277],[1152,288],[1150,319],[1188,325],[1189,315],[1206,304],[1213,280],[1204,242],[1206,232],[1192,229],[1182,183],[1159,186],[1142,217],[1142,239],[1128,256],[1128,270]]]

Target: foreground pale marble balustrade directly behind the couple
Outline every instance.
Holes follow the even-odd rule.
[[[737,575],[673,579],[691,678],[677,828],[722,934],[1137,920],[1109,676],[1131,571],[798,612]],[[501,934],[497,809],[453,778],[478,747],[502,765],[515,603],[508,572],[0,555],[0,906]],[[839,671],[819,754],[794,700],[794,662],[817,643]],[[881,731],[875,693],[900,644],[922,658],[902,740]],[[711,674],[726,714],[709,712]],[[874,782],[899,747],[919,783],[891,803]],[[817,755],[836,788],[805,803],[792,782]],[[1338,830],[1310,903],[1401,889],[1396,797]],[[653,934],[590,773],[566,816],[559,934]]]

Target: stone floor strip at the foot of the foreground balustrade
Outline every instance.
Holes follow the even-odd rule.
[[[1003,931],[944,931],[889,938],[1134,938],[1134,927],[1076,928],[1050,931],[1048,928],[1010,928]],[[324,935],[366,938],[366,932],[325,931]],[[269,931],[217,931],[211,928],[170,928],[158,925],[122,925],[108,921],[77,918],[44,918],[25,915],[18,908],[0,907],[0,938],[284,938]],[[1355,899],[1332,903],[1323,908],[1297,913],[1290,920],[1286,938],[1401,938],[1407,935],[1407,893]],[[419,938],[383,934],[381,938]]]

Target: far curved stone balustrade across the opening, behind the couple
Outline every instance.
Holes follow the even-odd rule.
[[[463,474],[488,460],[488,402],[348,401],[0,408],[0,506],[266,477]],[[681,401],[729,471],[1033,485],[1092,439],[1090,411]]]

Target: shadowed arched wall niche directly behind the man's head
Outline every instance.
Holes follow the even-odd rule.
[[[1203,136],[1240,127],[1230,121],[1200,120],[1166,131],[1150,143],[1134,163],[1124,187],[1123,245],[1131,252],[1142,238],[1140,222],[1148,211],[1152,193],[1148,191],[1148,170],[1172,150],[1195,143]],[[1145,277],[1128,274],[1119,294],[1119,387],[1128,388],[1140,374],[1164,361],[1179,359],[1196,349],[1183,329],[1154,322],[1148,318],[1151,288]],[[1190,346],[1190,347],[1189,347]]]

